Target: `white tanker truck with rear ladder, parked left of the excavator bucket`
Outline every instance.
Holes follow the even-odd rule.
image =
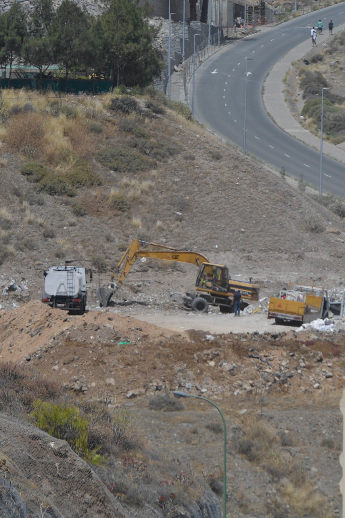
[[[77,311],[86,309],[86,272],[82,266],[51,266],[44,271],[42,302],[52,308]]]

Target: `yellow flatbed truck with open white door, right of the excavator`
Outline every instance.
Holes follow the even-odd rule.
[[[268,319],[277,324],[294,322],[306,324],[316,319],[325,319],[332,313],[341,318],[344,306],[344,292],[331,292],[320,286],[292,284],[280,290],[278,297],[270,297]]]

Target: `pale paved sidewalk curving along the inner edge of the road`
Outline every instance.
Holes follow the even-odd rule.
[[[345,24],[339,25],[334,29],[335,32],[343,31]],[[284,101],[284,85],[283,79],[292,61],[297,61],[311,49],[310,38],[297,45],[293,50],[288,52],[278,63],[271,69],[264,82],[264,105],[268,114],[273,118],[274,122],[286,133],[304,142],[311,148],[320,149],[320,139],[305,130],[293,117],[288,103]],[[345,151],[338,148],[334,144],[323,140],[323,154],[345,163]]]

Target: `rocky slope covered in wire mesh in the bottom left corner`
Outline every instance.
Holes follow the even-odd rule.
[[[127,512],[67,442],[0,414],[2,518],[125,518]]]

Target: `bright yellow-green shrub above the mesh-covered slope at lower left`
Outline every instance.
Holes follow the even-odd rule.
[[[79,408],[74,405],[59,405],[37,399],[32,404],[29,414],[38,428],[47,434],[68,442],[74,452],[92,464],[100,464],[102,457],[97,454],[99,448],[89,450],[88,422],[82,418]]]

